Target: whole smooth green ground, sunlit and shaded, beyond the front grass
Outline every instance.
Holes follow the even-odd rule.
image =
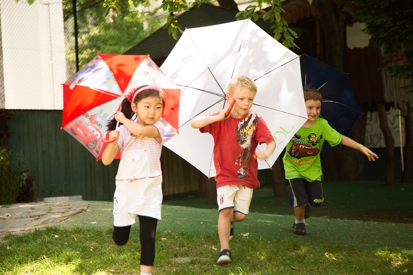
[[[413,249],[413,185],[383,186],[379,182],[327,182],[325,202],[312,208],[306,236],[292,233],[293,209],[288,197],[275,197],[271,186],[254,191],[250,214],[235,224],[236,238],[296,240],[364,248]],[[92,207],[62,223],[111,230],[112,202],[90,202]],[[218,210],[195,193],[164,197],[157,231],[217,234]],[[134,229],[138,225],[133,226]]]

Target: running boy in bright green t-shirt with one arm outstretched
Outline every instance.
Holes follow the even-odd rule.
[[[294,207],[295,214],[293,233],[298,235],[307,234],[305,219],[310,217],[310,205],[321,206],[324,200],[320,152],[325,141],[331,146],[342,144],[357,149],[370,162],[379,158],[369,148],[340,134],[328,125],[327,120],[319,117],[323,100],[319,91],[305,88],[304,100],[308,120],[287,144],[283,157],[285,178],[290,183],[289,205]]]

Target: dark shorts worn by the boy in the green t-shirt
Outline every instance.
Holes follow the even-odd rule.
[[[321,206],[324,201],[323,186],[321,181],[312,182],[304,178],[292,178],[290,183],[289,206],[302,206],[310,203],[311,206]]]

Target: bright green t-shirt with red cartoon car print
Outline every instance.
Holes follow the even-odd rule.
[[[321,180],[320,151],[325,141],[339,145],[342,135],[328,125],[327,120],[317,117],[310,128],[301,126],[286,146],[283,157],[285,178]]]

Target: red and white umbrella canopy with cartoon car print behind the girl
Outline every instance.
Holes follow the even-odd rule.
[[[93,58],[63,84],[62,129],[100,159],[107,123],[119,110],[125,92],[154,83],[164,92],[165,142],[178,128],[180,90],[149,55],[98,54]]]

